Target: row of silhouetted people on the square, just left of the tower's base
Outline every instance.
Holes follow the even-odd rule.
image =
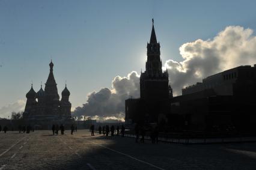
[[[91,136],[94,136],[94,125],[93,124],[91,125],[90,130],[91,130]],[[117,128],[115,129],[114,125],[112,125],[110,128],[108,125],[99,126],[99,128],[98,128],[99,135],[103,134],[103,136],[105,136],[105,135],[109,136],[109,133],[111,133],[111,136],[114,136],[114,134],[116,134],[117,136],[120,134],[121,134],[121,136],[124,136],[125,130],[126,130],[126,128],[124,127],[124,125],[121,126],[121,130],[120,130],[119,126],[117,126]]]

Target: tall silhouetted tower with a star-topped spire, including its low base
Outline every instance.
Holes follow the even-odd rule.
[[[154,22],[150,43],[147,43],[147,62],[140,77],[140,99],[126,100],[126,123],[148,121],[155,123],[170,112],[172,89],[168,71],[162,70],[160,44],[157,43]]]

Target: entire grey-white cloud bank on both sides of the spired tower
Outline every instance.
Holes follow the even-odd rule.
[[[212,39],[184,43],[180,55],[183,61],[169,59],[163,66],[163,69],[168,68],[174,96],[204,77],[239,65],[256,64],[256,37],[252,29],[227,26]],[[116,76],[112,80],[112,89],[102,88],[88,94],[87,103],[76,108],[73,114],[98,120],[121,119],[124,117],[124,100],[130,96],[139,97],[139,75],[135,71],[127,77]]]

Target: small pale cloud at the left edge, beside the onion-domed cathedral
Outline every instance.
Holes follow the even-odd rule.
[[[0,118],[11,117],[11,112],[24,111],[26,102],[24,100],[17,100],[17,102],[9,104],[7,106],[2,106],[0,108]]]

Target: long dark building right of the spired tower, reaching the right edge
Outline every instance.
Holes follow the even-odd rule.
[[[256,126],[256,64],[232,68],[182,90],[171,100],[173,129],[253,130]]]

